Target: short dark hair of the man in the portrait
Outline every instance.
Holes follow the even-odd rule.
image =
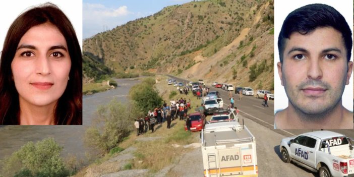
[[[319,27],[332,27],[342,34],[346,49],[347,61],[351,55],[351,30],[344,17],[333,7],[323,4],[311,4],[292,11],[285,18],[278,37],[280,63],[283,63],[285,39],[289,39],[293,32],[303,35]]]

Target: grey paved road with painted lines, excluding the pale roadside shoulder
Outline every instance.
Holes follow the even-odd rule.
[[[174,76],[168,75],[168,77],[171,77],[176,81],[182,82],[184,84],[189,82],[186,79],[181,79]],[[219,91],[221,93],[221,98],[223,99],[224,104],[230,103],[228,100],[228,93],[225,90],[222,90],[221,88],[214,88],[210,85],[206,85],[206,87],[209,87],[210,90]],[[235,99],[235,106],[237,106],[237,108],[240,110],[241,115],[285,137],[299,135],[305,132],[316,131],[316,130],[305,130],[305,129],[304,130],[281,130],[281,129],[274,130],[274,101],[273,100],[268,100],[269,107],[264,107],[263,99],[244,95],[242,100],[239,100],[239,95],[234,94],[234,92],[232,95]],[[354,138],[354,130],[331,130],[331,131],[338,132],[347,135],[348,137]]]

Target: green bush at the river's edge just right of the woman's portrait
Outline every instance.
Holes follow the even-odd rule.
[[[84,141],[88,147],[106,154],[129,136],[139,111],[130,103],[122,104],[112,99],[107,105],[98,107],[97,115],[86,129]]]

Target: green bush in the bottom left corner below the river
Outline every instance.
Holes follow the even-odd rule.
[[[68,176],[60,157],[62,150],[53,138],[28,142],[0,162],[0,176]]]

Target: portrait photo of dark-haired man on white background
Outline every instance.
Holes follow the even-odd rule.
[[[274,5],[274,128],[353,129],[352,2]]]

